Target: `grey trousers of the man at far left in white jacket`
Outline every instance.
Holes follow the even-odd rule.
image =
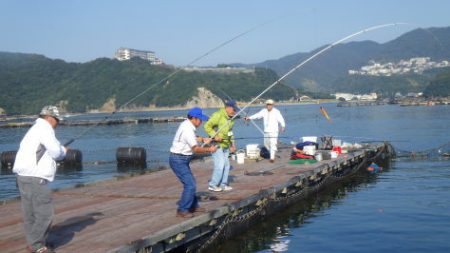
[[[45,246],[53,218],[51,190],[47,180],[17,176],[27,243],[33,249]]]

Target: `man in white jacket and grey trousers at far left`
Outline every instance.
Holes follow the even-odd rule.
[[[54,252],[46,245],[53,217],[51,191],[55,160],[64,159],[67,149],[55,137],[61,117],[56,106],[45,106],[20,142],[13,171],[17,174],[28,249]]]

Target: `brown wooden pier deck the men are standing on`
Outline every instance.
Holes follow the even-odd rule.
[[[49,238],[59,253],[165,252],[210,236],[227,216],[263,204],[268,207],[267,203],[295,189],[367,163],[383,147],[379,144],[311,165],[288,164],[290,148],[286,147],[275,163],[232,163],[233,190],[220,193],[207,190],[212,161],[194,162],[197,192],[206,196],[200,204],[207,212],[190,219],[175,216],[182,186],[170,169],[55,191]],[[0,252],[27,252],[25,248],[20,201],[7,201],[0,206]]]

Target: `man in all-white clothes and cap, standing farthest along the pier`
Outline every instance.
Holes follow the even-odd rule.
[[[277,152],[278,132],[284,132],[286,124],[280,111],[273,107],[274,101],[269,99],[266,101],[266,108],[262,109],[245,120],[263,119],[264,120],[264,146],[270,151],[270,162],[275,161],[275,153]]]

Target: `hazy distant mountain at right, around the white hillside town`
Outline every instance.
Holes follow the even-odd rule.
[[[309,53],[296,53],[256,64],[232,65],[270,68],[281,76],[322,48]],[[417,87],[423,89],[427,86],[427,82],[430,80],[429,76],[365,78],[348,75],[348,70],[359,69],[368,65],[371,60],[385,63],[414,57],[430,57],[433,61],[450,59],[450,27],[415,29],[383,44],[373,41],[339,44],[295,71],[286,79],[286,84],[313,92],[334,92],[345,88],[346,91],[359,93],[363,90],[380,90],[381,86],[376,84],[388,80],[390,83],[402,83],[400,90],[415,91]],[[377,79],[379,80],[377,81]],[[367,81],[370,84],[366,83]],[[344,82],[350,83],[350,85],[345,87]],[[370,89],[371,87],[373,89]]]

